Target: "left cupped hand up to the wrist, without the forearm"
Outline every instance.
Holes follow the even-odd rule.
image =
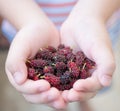
[[[11,84],[31,103],[43,103],[57,109],[65,103],[56,88],[45,80],[27,79],[27,58],[34,57],[39,48],[58,46],[59,36],[53,24],[31,24],[23,27],[14,38],[6,60],[6,72]]]

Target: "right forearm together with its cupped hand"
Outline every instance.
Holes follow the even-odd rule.
[[[106,21],[119,7],[120,1],[116,1],[117,4],[108,0],[92,0],[91,4],[87,1],[79,1],[63,23],[61,40],[76,50],[82,50],[88,58],[96,62],[97,67],[90,78],[76,81],[72,89],[62,93],[67,102],[82,102],[94,97],[99,90],[111,84],[115,70]],[[105,11],[108,2],[113,9]]]

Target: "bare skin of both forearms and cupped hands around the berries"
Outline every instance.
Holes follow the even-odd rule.
[[[69,102],[86,101],[110,85],[115,59],[105,23],[119,7],[120,0],[88,3],[88,0],[78,1],[58,32],[33,0],[0,0],[0,14],[18,30],[6,59],[6,73],[27,101],[63,109]],[[57,47],[60,43],[82,50],[97,64],[90,78],[78,80],[72,89],[63,92],[50,88],[45,80],[28,80],[25,65],[26,59],[33,57],[40,47]]]

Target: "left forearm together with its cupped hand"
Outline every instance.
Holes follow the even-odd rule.
[[[48,45],[56,47],[60,44],[57,29],[33,0],[1,0],[0,12],[18,30],[5,65],[9,81],[31,103],[64,108],[66,103],[61,93],[50,88],[47,81],[27,79],[25,65],[27,58],[34,57],[40,48]]]

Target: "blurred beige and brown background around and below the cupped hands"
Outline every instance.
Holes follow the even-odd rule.
[[[2,18],[0,18],[0,23]],[[54,111],[45,105],[35,105],[25,101],[9,83],[5,74],[5,60],[9,42],[0,31],[0,111]],[[120,40],[114,46],[117,68],[112,86],[103,90],[86,105],[85,111],[120,111]],[[14,62],[14,61],[13,61]],[[70,103],[68,111],[83,111],[78,103]]]

